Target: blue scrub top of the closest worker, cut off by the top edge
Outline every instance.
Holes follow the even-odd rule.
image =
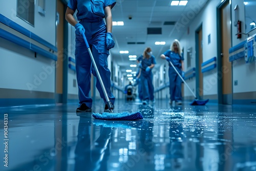
[[[105,17],[105,7],[113,8],[115,0],[69,0],[68,7],[73,11],[77,10],[76,17],[82,19],[96,19]]]

